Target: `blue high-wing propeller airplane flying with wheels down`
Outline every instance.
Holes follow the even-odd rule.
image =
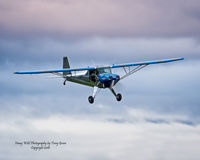
[[[69,61],[67,57],[63,57],[63,69],[60,70],[48,70],[48,71],[32,71],[32,72],[15,72],[15,74],[44,74],[44,73],[52,73],[64,78],[64,85],[66,81],[79,83],[82,85],[87,85],[93,87],[92,96],[88,97],[88,101],[90,103],[94,103],[95,96],[97,95],[99,89],[101,88],[109,88],[111,92],[116,97],[117,101],[121,101],[122,95],[120,93],[116,93],[113,87],[122,79],[130,76],[131,74],[139,71],[140,69],[151,65],[151,64],[159,64],[159,63],[168,63],[173,61],[183,60],[184,58],[173,58],[173,59],[165,59],[165,60],[155,60],[155,61],[146,61],[146,62],[136,62],[129,64],[120,64],[120,65],[112,65],[112,66],[104,66],[104,67],[88,67],[88,68],[75,68],[71,69],[69,65]],[[125,74],[120,76],[118,74],[113,74],[112,69],[115,68],[123,68]],[[85,73],[81,73],[81,71],[85,71]],[[77,73],[79,72],[79,74]]]

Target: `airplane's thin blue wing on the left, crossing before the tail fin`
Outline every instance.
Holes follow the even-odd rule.
[[[66,72],[66,71],[86,71],[86,70],[93,70],[94,67],[91,68],[75,68],[75,69],[60,69],[60,70],[48,70],[48,71],[31,71],[31,72],[14,72],[14,74],[44,74],[44,73],[59,73],[59,72]]]

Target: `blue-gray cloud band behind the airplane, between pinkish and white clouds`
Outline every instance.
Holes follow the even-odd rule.
[[[2,109],[21,104],[34,104],[41,114],[66,112],[87,114],[100,112],[88,106],[87,97],[92,88],[68,83],[63,87],[60,78],[49,79],[49,75],[20,76],[15,71],[59,69],[62,56],[70,57],[71,66],[87,67],[96,65],[129,63],[159,58],[184,57],[182,62],[149,66],[121,82],[116,89],[123,93],[123,103],[128,107],[155,110],[168,114],[181,113],[199,122],[199,44],[193,39],[131,39],[131,38],[89,38],[76,41],[41,39],[29,41],[1,40],[0,79]],[[20,54],[19,54],[20,53]],[[65,54],[66,53],[66,54]],[[121,71],[117,72],[121,74]],[[9,78],[8,78],[9,77]],[[50,75],[51,77],[51,75]],[[74,96],[76,95],[76,96]],[[107,96],[108,95],[108,96]],[[40,100],[42,98],[42,100]],[[8,101],[7,99],[13,99]],[[80,105],[80,102],[84,104]],[[116,105],[109,91],[102,91],[97,104]],[[40,102],[40,103],[38,103]],[[63,104],[66,103],[66,104]],[[59,104],[59,105],[57,105]],[[3,106],[7,107],[3,107]],[[57,107],[55,107],[57,106]],[[67,107],[66,107],[67,106]],[[69,106],[73,106],[69,108]],[[17,107],[16,107],[17,108]],[[112,111],[111,111],[112,112]]]

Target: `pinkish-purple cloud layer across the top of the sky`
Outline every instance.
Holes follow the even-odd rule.
[[[199,10],[197,0],[1,1],[0,30],[65,37],[196,37]]]

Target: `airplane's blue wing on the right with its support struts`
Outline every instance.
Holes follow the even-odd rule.
[[[184,58],[172,58],[172,59],[164,59],[164,60],[120,64],[120,65],[113,65],[113,66],[111,66],[111,68],[123,68],[125,71],[125,75],[122,76],[120,79],[124,79],[150,64],[168,63],[168,62],[174,62],[174,61],[180,61],[180,60],[184,60]],[[133,68],[133,67],[135,67],[135,68]]]

